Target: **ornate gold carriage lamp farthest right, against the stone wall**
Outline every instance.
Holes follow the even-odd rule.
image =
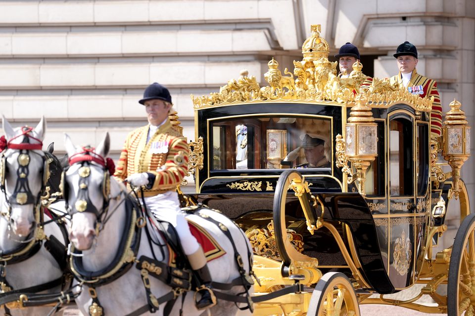
[[[470,157],[470,126],[462,104],[455,100],[450,104],[442,125],[442,156],[452,167],[453,193],[455,199],[460,192],[460,169]]]

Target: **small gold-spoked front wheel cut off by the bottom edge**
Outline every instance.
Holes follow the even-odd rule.
[[[326,273],[313,290],[307,316],[360,316],[350,280],[339,272]]]

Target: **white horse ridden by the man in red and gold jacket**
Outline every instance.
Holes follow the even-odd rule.
[[[132,225],[131,227],[136,226],[131,220],[131,217],[136,215],[133,211],[127,211],[124,202],[128,195],[126,187],[107,172],[103,157],[109,151],[108,134],[95,150],[91,147],[76,148],[67,135],[65,135],[65,145],[70,161],[73,162],[66,171],[64,183],[65,197],[67,197],[72,214],[69,237],[72,252],[82,256],[78,258],[74,257],[73,254],[71,267],[75,271],[76,277],[85,281],[76,303],[84,315],[89,315],[91,309],[97,311],[100,308],[103,309],[106,315],[128,315],[147,304],[147,293],[141,276],[144,269],[137,269],[137,259],[142,256],[153,257],[151,251],[153,249],[158,261],[168,262],[169,254],[166,247],[160,249],[160,246],[157,245],[157,243],[164,244],[164,240],[158,234],[153,237],[155,243],[149,243],[146,229],[148,226],[152,233],[153,229],[150,228],[149,224],[142,227],[141,224],[144,224],[144,222],[139,220],[136,224],[141,227],[137,229],[141,233],[141,238],[137,253],[132,256],[130,251],[121,249],[121,245],[124,245],[124,239],[126,239],[124,234],[125,237],[130,237],[132,243],[137,238],[137,235],[129,234],[128,230],[130,225]],[[108,187],[110,187],[110,192]],[[104,205],[108,207],[106,206],[104,209]],[[140,216],[140,214],[137,216]],[[218,225],[208,221],[206,219],[208,217],[217,221]],[[241,276],[238,272],[233,245],[223,233],[224,229],[231,233],[238,254],[243,259],[245,270],[243,276],[249,276],[252,262],[250,244],[242,231],[230,219],[206,208],[199,211],[199,216],[188,215],[187,219],[204,227],[226,251],[225,255],[208,262],[213,281],[229,283]],[[226,228],[220,228],[219,223],[223,223]],[[127,242],[125,244],[129,247]],[[130,246],[128,249],[131,248],[134,247]],[[164,248],[165,251],[163,251]],[[82,253],[77,253],[78,250]],[[118,256],[121,253],[124,255]],[[122,258],[121,262],[132,261],[133,266],[117,279],[111,282],[104,281],[103,285],[96,286],[98,282],[104,280],[104,275],[107,275],[110,271],[109,268],[113,270],[116,267],[114,260],[118,257]],[[120,266],[122,267],[122,264]],[[141,267],[144,267],[143,264]],[[148,271],[157,271],[155,266],[148,265],[147,267]],[[98,271],[102,272],[98,273]],[[147,271],[145,271],[145,274],[148,275]],[[149,276],[145,282],[150,283],[150,293],[155,298],[160,298],[172,291],[170,286],[155,277]],[[91,287],[95,289],[91,290]],[[235,286],[232,290],[227,291],[228,294],[242,292],[244,292],[242,285]],[[250,292],[252,292],[252,288]],[[164,315],[164,306],[165,303],[161,304],[157,314],[153,315]],[[186,295],[183,303],[182,298],[179,297],[170,315],[178,315],[180,308],[183,308],[183,315],[207,314],[206,311],[196,310],[193,293]],[[218,304],[211,308],[212,315],[235,315],[237,312],[238,308],[234,303],[224,300],[219,300]],[[145,310],[144,314],[149,315],[148,310]]]

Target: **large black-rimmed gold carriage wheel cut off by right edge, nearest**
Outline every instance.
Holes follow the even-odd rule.
[[[447,284],[447,314],[475,312],[475,214],[468,215],[455,236]]]

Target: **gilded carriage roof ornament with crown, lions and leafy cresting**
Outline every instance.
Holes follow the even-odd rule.
[[[279,63],[272,58],[264,74],[269,85],[261,87],[255,76],[248,77],[247,71],[242,71],[237,80],[229,80],[219,92],[201,97],[191,95],[194,109],[276,101],[336,102],[352,106],[358,98],[371,107],[407,103],[418,111],[430,111],[433,99],[413,95],[397,83],[391,85],[387,79],[368,81],[359,61],[353,65],[349,78],[337,76],[337,62],[329,61],[329,45],[320,32],[319,24],[311,26],[311,35],[302,45],[303,59],[293,61],[293,73],[285,68],[282,74]]]

